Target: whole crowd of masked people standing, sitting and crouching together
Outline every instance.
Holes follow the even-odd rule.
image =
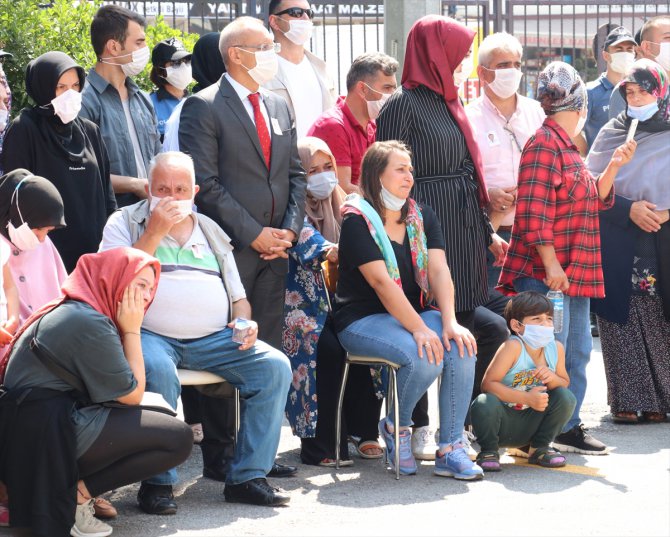
[[[137,482],[143,511],[174,514],[194,442],[226,501],[287,505],[268,481],[298,472],[275,461],[284,417],[323,467],[354,464],[350,442],[460,480],[501,448],[607,454],[580,416],[591,309],[613,419],[667,419],[670,18],[613,28],[588,86],[549,63],[535,99],[519,41],[489,35],[464,106],[475,32],[454,19],[413,25],[401,88],[369,52],[338,97],[307,0],[269,13],[150,51],[143,17],[103,6],[95,66],[34,58],[11,122],[0,70],[0,525],[109,535],[101,495]],[[363,365],[337,423],[347,353],[397,368],[397,423]],[[226,384],[182,390],[177,369],[234,387],[239,431]]]

